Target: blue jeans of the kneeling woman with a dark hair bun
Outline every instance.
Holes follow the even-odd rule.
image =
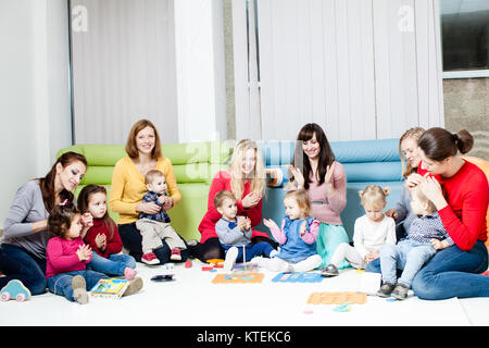
[[[452,297],[489,297],[487,271],[488,252],[482,241],[477,240],[469,251],[457,246],[438,251],[416,274],[413,281],[414,295],[425,300],[442,300]],[[380,273],[379,259],[365,268],[366,272]]]

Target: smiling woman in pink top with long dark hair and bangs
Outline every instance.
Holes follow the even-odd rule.
[[[304,125],[297,137],[298,145],[290,167],[292,187],[304,188],[312,202],[312,216],[321,222],[316,239],[322,266],[329,264],[340,243],[349,243],[340,213],[347,206],[347,174],[335,160],[326,134],[315,123]],[[349,266],[343,261],[338,269]]]

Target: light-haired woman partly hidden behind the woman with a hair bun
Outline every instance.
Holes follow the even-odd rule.
[[[399,157],[402,163],[402,176],[405,178],[406,186],[411,185],[411,182],[415,179],[417,173],[417,166],[421,162],[421,157],[417,151],[417,140],[425,133],[422,127],[413,127],[404,132],[399,139]],[[416,219],[411,209],[411,195],[406,187],[401,190],[401,197],[393,209],[386,211],[386,215],[392,217],[398,224],[396,236],[398,240],[405,238],[411,224]]]

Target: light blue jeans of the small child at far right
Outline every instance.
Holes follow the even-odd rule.
[[[403,239],[397,245],[380,248],[380,269],[384,283],[401,283],[411,288],[414,276],[437,250],[431,244]],[[397,270],[404,270],[398,279]]]

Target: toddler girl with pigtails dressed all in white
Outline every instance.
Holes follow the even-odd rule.
[[[368,262],[380,256],[380,247],[385,244],[396,244],[396,223],[384,214],[390,188],[368,185],[359,194],[365,215],[355,220],[353,247],[346,243],[338,245],[331,263],[321,270],[323,276],[338,275],[338,265],[343,259],[358,270],[365,269]]]

